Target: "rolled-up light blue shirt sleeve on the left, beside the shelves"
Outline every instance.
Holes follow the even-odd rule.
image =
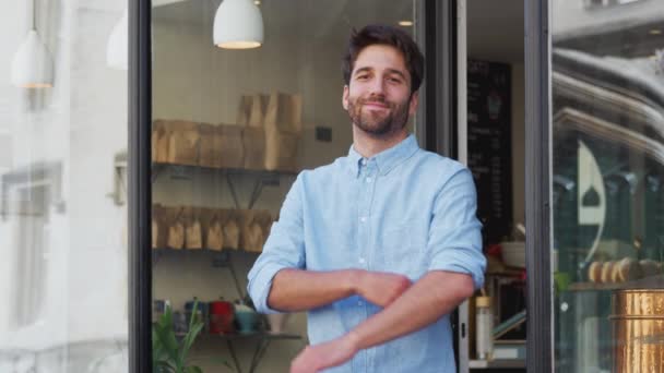
[[[304,226],[300,178],[293,183],[282,206],[278,221],[272,225],[263,252],[248,274],[247,290],[257,311],[277,313],[268,305],[272,280],[284,268],[305,267]]]

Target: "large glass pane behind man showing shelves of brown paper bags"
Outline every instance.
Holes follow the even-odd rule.
[[[285,372],[307,344],[305,314],[256,313],[247,273],[298,172],[348,153],[352,28],[414,34],[414,14],[413,1],[154,2],[153,322],[181,342],[200,321],[189,356],[204,371]]]

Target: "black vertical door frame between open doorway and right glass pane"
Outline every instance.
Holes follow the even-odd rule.
[[[554,371],[550,2],[524,0],[527,372]]]

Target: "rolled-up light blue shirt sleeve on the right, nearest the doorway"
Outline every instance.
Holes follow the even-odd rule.
[[[469,274],[478,289],[484,285],[486,258],[476,210],[473,176],[469,169],[460,168],[436,196],[427,249],[429,270]]]

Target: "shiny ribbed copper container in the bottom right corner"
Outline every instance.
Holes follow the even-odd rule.
[[[616,290],[613,372],[664,373],[664,289]]]

